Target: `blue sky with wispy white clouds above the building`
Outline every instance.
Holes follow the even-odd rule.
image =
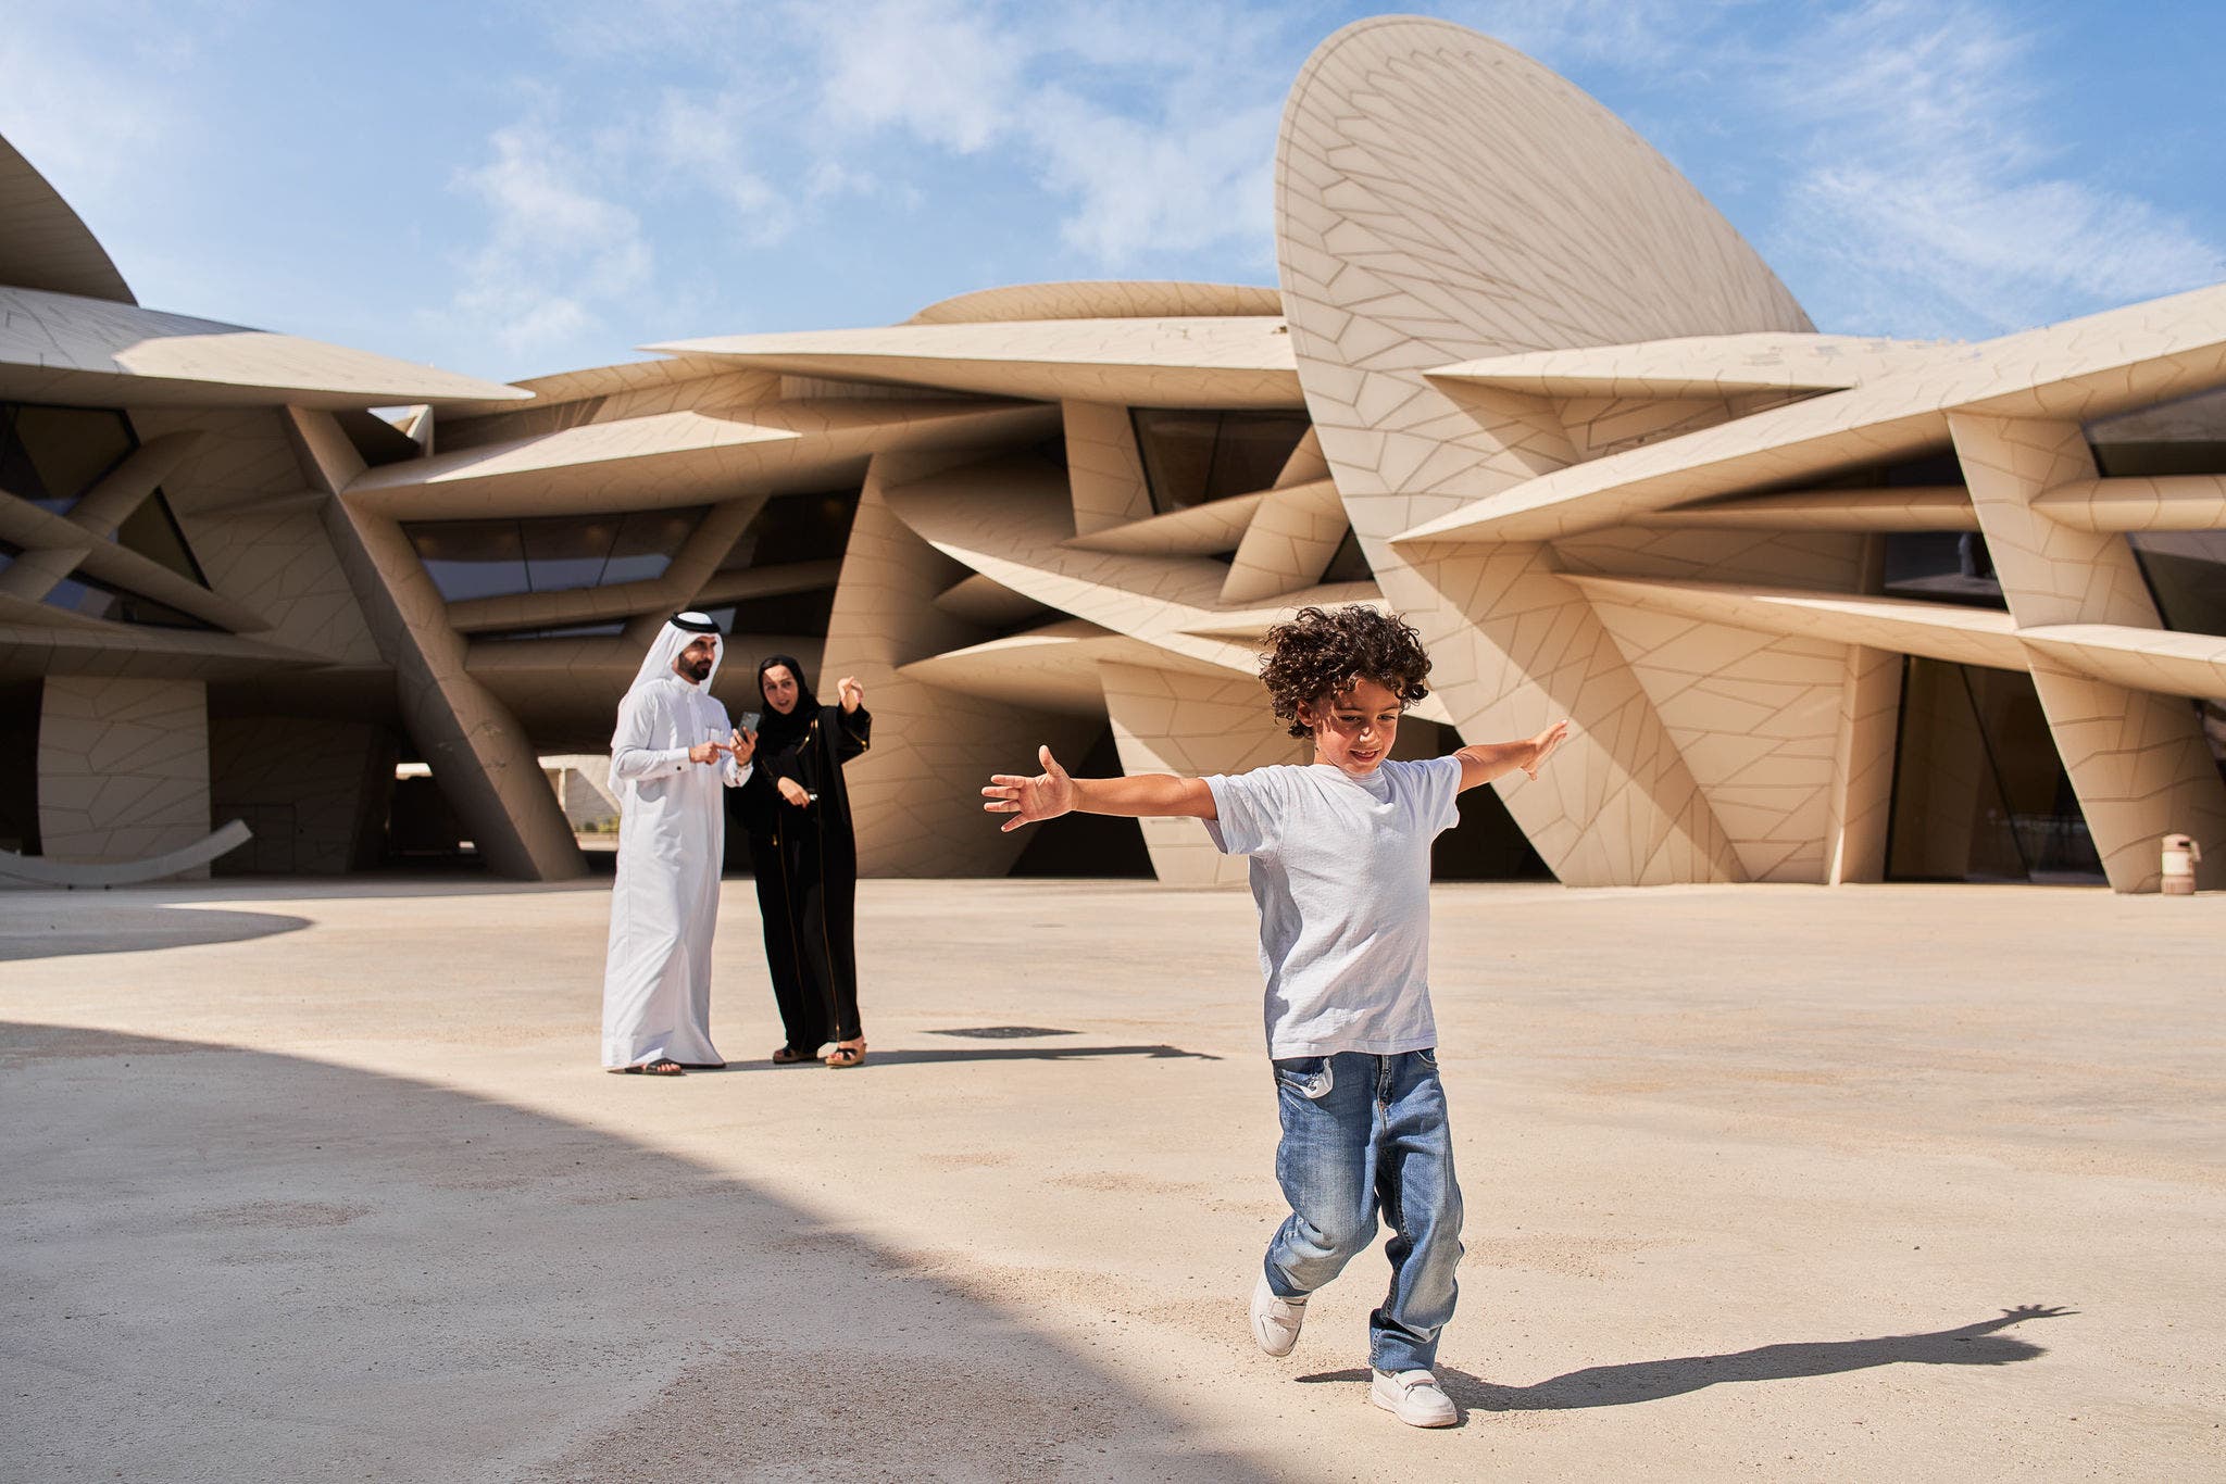
[[[1667,154],[1821,329],[2226,278],[2226,7],[1414,4]],[[11,0],[0,133],[140,303],[521,378],[1046,278],[1273,283],[1307,53],[1238,0]]]

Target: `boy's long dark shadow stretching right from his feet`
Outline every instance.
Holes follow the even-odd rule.
[[[1462,1411],[1476,1413],[1552,1413],[1578,1406],[1629,1406],[1661,1402],[1721,1382],[1783,1382],[1803,1375],[1841,1375],[1870,1366],[2006,1366],[2046,1355],[2041,1346],[1997,1335],[2023,1319],[2055,1319],[2077,1313],[2026,1304],[2001,1310],[1999,1319],[1981,1319],[1954,1330],[1930,1335],[1883,1335],[1879,1339],[1816,1339],[1808,1344],[1765,1344],[1732,1355],[1685,1355],[1678,1359],[1641,1359],[1627,1366],[1587,1366],[1556,1375],[1536,1386],[1496,1386],[1467,1371],[1438,1366],[1438,1382]],[[1322,1371],[1300,1382],[1365,1382],[1367,1371]]]

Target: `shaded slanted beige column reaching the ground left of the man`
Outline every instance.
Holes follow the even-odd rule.
[[[303,474],[338,489],[361,469],[329,414],[289,409]],[[467,647],[401,525],[334,496],[325,530],[390,665],[403,725],[487,865],[521,881],[588,870],[525,732],[467,672]]]

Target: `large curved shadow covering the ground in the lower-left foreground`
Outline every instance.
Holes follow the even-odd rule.
[[[601,1130],[62,1026],[0,1023],[0,1477],[1262,1477],[904,1253]]]

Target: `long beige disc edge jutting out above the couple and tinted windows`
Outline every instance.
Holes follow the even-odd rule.
[[[953,398],[759,403],[672,412],[372,469],[347,487],[394,518],[661,509],[737,494],[801,494],[864,478],[875,452],[1026,443],[1057,409]]]

